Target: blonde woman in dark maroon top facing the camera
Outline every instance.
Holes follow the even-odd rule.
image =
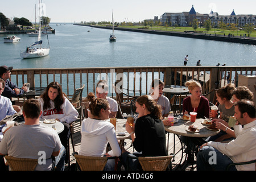
[[[209,118],[209,101],[204,96],[201,96],[201,84],[195,80],[189,80],[185,82],[185,86],[188,87],[191,96],[183,100],[183,114],[189,114],[195,110],[197,118]]]

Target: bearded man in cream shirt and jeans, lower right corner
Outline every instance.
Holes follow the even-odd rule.
[[[256,117],[254,102],[240,100],[235,104],[237,121],[236,139],[229,143],[204,143],[197,154],[197,170],[225,170],[231,163],[247,162],[255,159],[256,154]],[[255,163],[230,168],[233,171],[255,170]]]

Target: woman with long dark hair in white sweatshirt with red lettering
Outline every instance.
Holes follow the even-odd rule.
[[[40,115],[41,121],[44,119],[56,119],[63,123],[64,130],[59,134],[59,137],[61,143],[67,150],[69,124],[76,121],[79,113],[71,102],[69,102],[68,98],[65,97],[59,82],[56,81],[51,82],[47,86],[46,92],[40,96],[39,101],[42,110],[42,114]]]

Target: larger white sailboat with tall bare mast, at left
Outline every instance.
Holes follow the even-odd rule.
[[[39,0],[39,19],[41,19],[40,16],[40,0]],[[23,59],[28,58],[36,58],[36,57],[43,57],[49,55],[49,39],[47,34],[47,40],[48,40],[48,48],[42,48],[43,40],[41,40],[41,20],[39,20],[39,31],[38,31],[38,41],[32,44],[31,46],[27,47],[25,51],[20,52],[20,57]],[[36,47],[38,46],[38,47]]]

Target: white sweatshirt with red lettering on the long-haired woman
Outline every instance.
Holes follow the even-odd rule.
[[[43,113],[40,115],[40,120],[44,119],[60,119],[60,122],[64,123],[71,123],[76,121],[79,113],[75,109],[75,107],[69,102],[67,98],[65,98],[64,103],[60,106],[61,110],[58,112],[55,109],[54,102],[50,100],[51,107],[43,110],[44,101],[43,98],[39,98],[41,103],[41,110]]]

